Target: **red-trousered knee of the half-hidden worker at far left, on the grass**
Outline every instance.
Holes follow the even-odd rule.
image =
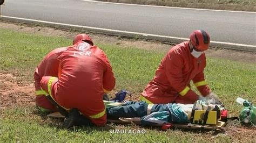
[[[46,98],[45,95],[36,96],[36,105],[38,109],[42,112],[56,112],[57,109],[51,102]]]

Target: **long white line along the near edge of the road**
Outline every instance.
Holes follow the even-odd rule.
[[[102,30],[102,31],[109,31],[109,32],[120,32],[120,33],[127,33],[127,34],[137,34],[137,35],[161,37],[161,38],[170,38],[170,39],[178,39],[178,40],[189,40],[188,38],[181,38],[181,37],[171,37],[171,36],[157,35],[157,34],[129,32],[129,31],[122,31],[122,30],[112,30],[112,29],[107,29],[107,28],[98,28],[98,27],[90,27],[90,26],[82,26],[82,25],[74,25],[74,24],[55,23],[55,22],[47,22],[47,21],[36,20],[36,19],[27,19],[27,18],[10,17],[10,16],[1,16],[1,17],[3,17],[3,18],[11,18],[11,19],[19,19],[19,20],[26,20],[26,21],[30,21],[30,22],[45,23],[45,24],[56,24],[56,25],[63,25],[63,26],[70,26],[70,27],[89,28],[91,30]],[[226,44],[226,45],[233,45],[233,46],[254,47],[254,48],[256,48],[255,45],[237,44],[237,43],[232,43],[232,42],[211,41],[211,43]]]

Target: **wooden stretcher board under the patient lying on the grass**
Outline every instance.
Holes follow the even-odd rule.
[[[50,113],[47,115],[49,118],[65,118],[64,116],[60,115],[59,112],[54,112]],[[140,123],[140,118],[119,118],[119,120],[107,120],[108,123],[114,123],[114,124],[136,124],[136,125],[141,125]],[[171,128],[188,128],[188,129],[204,129],[204,130],[215,130],[218,128],[221,128],[225,125],[225,122],[223,121],[218,121],[216,125],[199,125],[199,124],[175,124],[172,123],[170,124]],[[153,126],[159,126],[163,127],[164,124],[156,124]]]

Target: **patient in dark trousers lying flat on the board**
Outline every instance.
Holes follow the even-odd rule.
[[[119,104],[119,106],[114,107],[114,104]],[[147,104],[145,102],[109,103],[105,101],[105,105],[114,105],[106,108],[107,119],[139,117],[134,119],[136,119],[136,121],[140,120],[142,125],[190,123],[191,115],[194,117],[192,109],[217,111],[217,116],[214,117],[214,120],[218,121],[220,119],[219,107],[207,101],[197,101],[194,104]]]

